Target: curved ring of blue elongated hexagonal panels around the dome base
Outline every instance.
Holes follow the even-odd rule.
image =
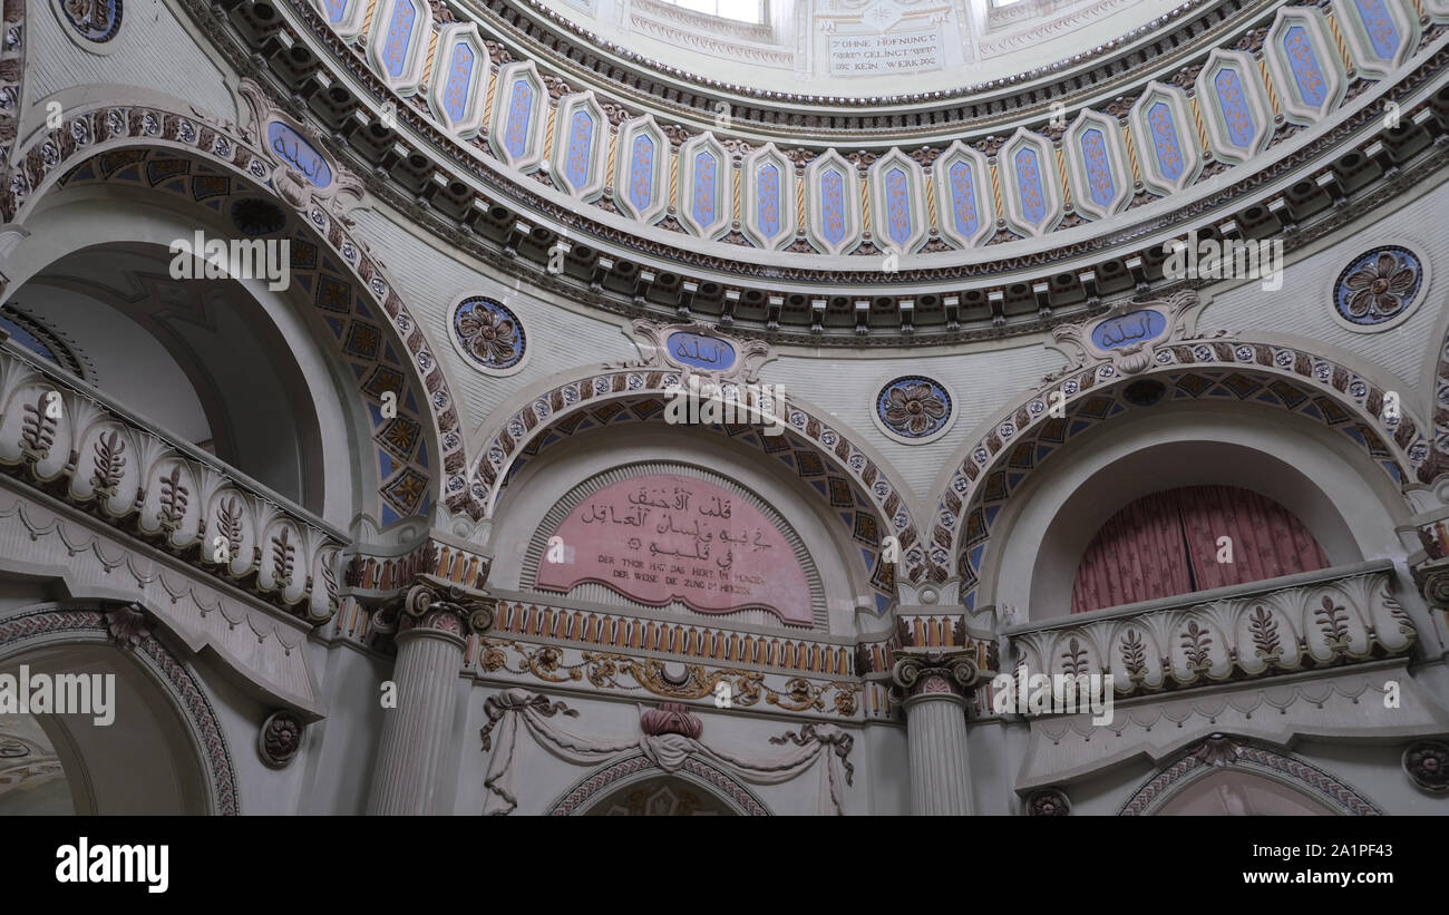
[[[471,155],[488,152],[520,174],[552,156],[556,190],[643,226],[830,256],[949,255],[1106,220],[1182,193],[1222,166],[1264,153],[1275,138],[1320,125],[1350,85],[1382,80],[1421,38],[1411,0],[1284,6],[1266,32],[1248,30],[1236,46],[1208,49],[1171,81],[1123,87],[1110,104],[1068,111],[1065,133],[1029,120],[1004,143],[998,133],[875,152],[777,151],[771,143],[756,149],[719,126],[696,132],[662,127],[649,111],[629,117],[619,101],[593,90],[555,91],[568,85],[540,69],[545,58],[485,48],[477,23],[435,22],[422,0],[381,0],[356,32],[339,0],[313,1],[403,97],[433,61],[422,107]],[[1335,35],[1345,36],[1348,56]],[[487,143],[471,143],[487,100]],[[603,113],[616,110],[625,117],[610,129]],[[678,116],[662,106],[656,114]],[[942,158],[948,164],[927,175]],[[603,187],[600,171],[609,162],[613,174]],[[800,226],[791,235],[796,211]]]

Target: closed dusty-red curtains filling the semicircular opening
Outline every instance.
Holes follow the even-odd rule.
[[[1220,537],[1232,541],[1232,562]],[[1143,497],[1087,547],[1072,612],[1256,582],[1327,568],[1313,534],[1287,508],[1236,486],[1185,486]]]

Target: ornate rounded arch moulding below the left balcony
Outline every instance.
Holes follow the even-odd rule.
[[[0,663],[14,662],[42,649],[109,647],[139,667],[146,680],[170,702],[180,720],[196,763],[204,776],[204,811],[239,812],[236,770],[201,680],[185,662],[145,627],[117,614],[91,608],[41,605],[0,618]],[[117,647],[128,646],[128,647]]]

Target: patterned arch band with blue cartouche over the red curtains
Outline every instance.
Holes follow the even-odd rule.
[[[1337,359],[1293,345],[1194,334],[1195,305],[1193,292],[1119,305],[1093,327],[1139,311],[1165,319],[1152,323],[1152,339],[1120,349],[1093,343],[1087,326],[1058,327],[1056,340],[1075,346],[1080,356],[998,414],[984,427],[985,434],[948,463],[936,489],[930,568],[909,568],[910,581],[920,581],[917,573],[946,581],[955,557],[962,601],[975,608],[993,527],[1020,485],[1069,440],[1158,402],[1250,405],[1306,417],[1342,434],[1397,489],[1423,481],[1430,453],[1427,426],[1407,408],[1397,420],[1381,418],[1382,385]],[[1052,416],[1058,404],[1062,416]]]

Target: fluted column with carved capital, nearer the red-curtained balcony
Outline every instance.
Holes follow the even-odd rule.
[[[971,815],[966,695],[980,672],[969,652],[897,649],[891,679],[906,707],[911,812]]]

